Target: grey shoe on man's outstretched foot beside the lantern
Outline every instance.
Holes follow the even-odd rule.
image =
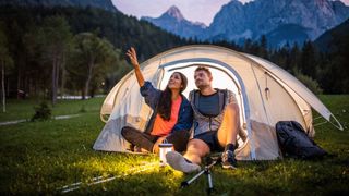
[[[198,164],[188,162],[185,158],[178,151],[167,152],[166,160],[167,160],[167,163],[170,167],[172,167],[174,170],[178,170],[184,173],[192,173],[201,170]]]

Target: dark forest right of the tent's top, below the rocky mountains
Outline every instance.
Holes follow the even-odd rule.
[[[269,48],[266,37],[260,40],[246,39],[237,45],[231,41],[214,41],[240,52],[251,53],[266,59],[291,73],[314,94],[349,93],[349,34],[333,33],[333,41],[327,52],[306,40],[303,45],[286,44],[281,48]]]

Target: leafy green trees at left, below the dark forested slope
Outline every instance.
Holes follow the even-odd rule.
[[[0,35],[4,35],[3,26],[0,24]],[[11,40],[2,36],[2,48],[7,52],[1,57],[8,59],[2,63],[2,84],[8,85],[7,94],[20,89],[31,96],[50,97],[53,105],[65,89],[81,91],[84,99],[104,82],[104,75],[125,64],[120,59],[120,50],[110,41],[96,33],[73,35],[62,16],[45,17],[40,25],[31,26],[23,33],[17,41],[23,47],[11,52]]]

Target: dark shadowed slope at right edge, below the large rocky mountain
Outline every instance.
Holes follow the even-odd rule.
[[[349,39],[349,19],[340,25],[325,32],[315,41],[314,45],[323,52],[333,52],[337,50],[338,42],[348,42]],[[347,40],[345,40],[347,39]]]

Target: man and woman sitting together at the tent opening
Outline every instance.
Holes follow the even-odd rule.
[[[200,171],[202,158],[210,151],[224,151],[221,164],[226,169],[236,169],[234,148],[240,126],[239,106],[230,90],[212,87],[212,73],[198,65],[194,73],[198,90],[190,93],[190,101],[182,95],[186,87],[186,77],[174,72],[165,90],[145,82],[140,70],[136,52],[133,48],[127,56],[135,70],[141,95],[154,110],[145,132],[125,126],[122,136],[132,145],[158,152],[158,145],[165,139],[172,143],[176,151],[166,155],[167,162],[176,170],[190,173]],[[194,123],[194,137],[189,139]],[[178,151],[185,151],[182,156]]]

